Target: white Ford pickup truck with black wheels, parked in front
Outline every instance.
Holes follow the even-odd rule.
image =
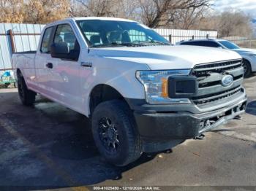
[[[37,93],[91,119],[115,165],[170,149],[244,113],[241,56],[171,46],[132,20],[77,17],[45,26],[37,52],[12,55],[18,93]]]

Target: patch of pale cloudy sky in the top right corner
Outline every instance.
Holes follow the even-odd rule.
[[[214,9],[241,9],[256,18],[256,0],[215,0]]]

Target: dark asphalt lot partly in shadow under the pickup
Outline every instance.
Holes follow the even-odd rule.
[[[256,76],[244,82],[249,104],[202,141],[189,140],[170,153],[143,155],[124,168],[99,156],[86,117],[42,98],[34,108],[15,88],[0,89],[0,190],[86,185],[256,186]]]

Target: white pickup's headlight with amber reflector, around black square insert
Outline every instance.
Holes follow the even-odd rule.
[[[137,71],[136,77],[145,88],[148,104],[188,104],[188,98],[169,98],[168,77],[189,75],[190,70]]]

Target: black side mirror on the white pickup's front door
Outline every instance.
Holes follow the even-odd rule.
[[[79,56],[79,50],[69,51],[67,42],[57,42],[50,46],[50,55],[52,58],[61,58],[64,60],[77,61]]]

